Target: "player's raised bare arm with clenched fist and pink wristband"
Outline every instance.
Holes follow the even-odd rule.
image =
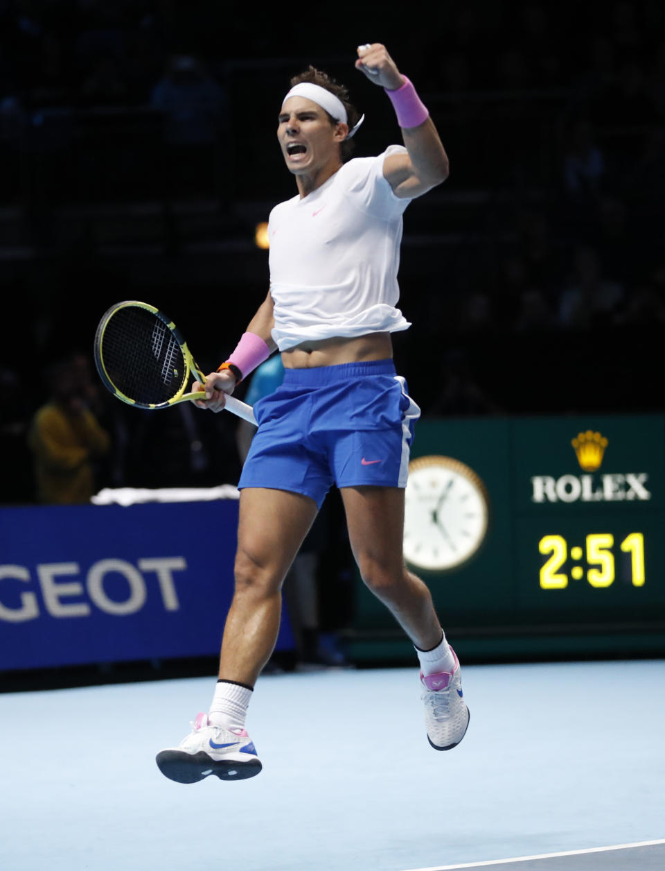
[[[448,158],[439,133],[413,85],[380,43],[361,45],[356,69],[373,84],[386,89],[402,129],[406,154],[389,154],[383,174],[398,197],[420,197],[448,176]],[[413,124],[413,126],[411,126]]]

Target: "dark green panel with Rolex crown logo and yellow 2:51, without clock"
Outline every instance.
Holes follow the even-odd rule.
[[[521,605],[539,621],[658,631],[665,419],[530,419],[512,429]]]

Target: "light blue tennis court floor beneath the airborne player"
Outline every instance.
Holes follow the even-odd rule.
[[[154,756],[212,678],[4,694],[0,867],[410,871],[665,839],[665,662],[462,672],[471,724],[449,753],[427,744],[415,668],[262,677],[264,771],[191,786]],[[516,868],[641,871],[662,850]]]

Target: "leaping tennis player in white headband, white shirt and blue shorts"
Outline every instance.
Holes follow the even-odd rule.
[[[448,160],[385,46],[360,46],[355,66],[385,89],[404,145],[348,159],[362,118],[346,88],[312,67],[292,79],[277,137],[298,194],[270,215],[270,291],[197,403],[223,407],[238,381],[279,348],[285,378],[255,407],[259,429],[238,483],[235,593],[212,705],[178,747],[158,753],[162,773],[181,783],[261,770],[245,714],[276,643],[283,579],[333,484],[363,581],[415,646],[430,744],[448,750],[467,731],[460,664],[426,584],[402,557],[420,409],[395,373],[391,345],[391,333],[410,326],[395,307],[402,213],[447,178]]]

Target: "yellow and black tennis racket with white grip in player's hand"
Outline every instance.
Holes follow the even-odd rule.
[[[178,327],[147,302],[118,302],[104,314],[95,334],[95,364],[105,387],[137,408],[169,408],[176,402],[204,399],[187,392],[191,375],[205,375],[191,356]],[[252,407],[226,396],[225,408],[256,426]]]

